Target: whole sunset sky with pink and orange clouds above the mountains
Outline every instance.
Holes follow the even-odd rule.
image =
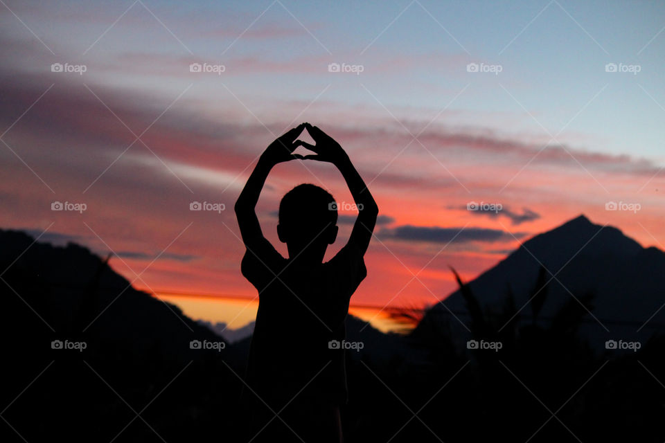
[[[380,208],[352,300],[365,318],[431,305],[448,266],[475,278],[582,213],[664,248],[665,4],[1,3],[0,228],[110,251],[195,318],[254,316],[233,204],[303,121]],[[274,214],[303,182],[353,201],[331,165],[278,165],[257,213],[283,255]]]

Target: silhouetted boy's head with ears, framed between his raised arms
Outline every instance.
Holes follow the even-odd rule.
[[[330,192],[311,184],[296,186],[279,204],[277,234],[290,257],[305,248],[315,255],[326,253],[337,237],[337,204]],[[310,255],[310,254],[308,254]]]

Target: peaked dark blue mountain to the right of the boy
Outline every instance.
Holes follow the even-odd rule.
[[[594,348],[604,349],[608,339],[646,341],[665,325],[665,310],[660,309],[665,302],[665,253],[644,248],[621,230],[594,224],[584,215],[535,235],[468,282],[468,287],[486,309],[500,307],[512,292],[517,309],[523,308],[518,317],[526,322],[531,318],[529,299],[540,272],[549,284],[547,297],[539,300],[539,318],[547,322],[571,298],[584,303],[589,296],[591,314],[586,314],[580,334]],[[446,317],[456,333],[465,336],[465,328],[449,309],[461,323],[468,320],[468,308],[458,290],[429,309],[421,325]]]

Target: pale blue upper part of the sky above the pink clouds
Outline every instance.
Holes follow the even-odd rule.
[[[46,44],[51,42],[56,54],[76,56],[133,3],[60,2],[52,3],[53,6],[17,3],[15,8],[16,12],[27,11],[28,15],[26,12],[23,15],[26,24]],[[662,152],[665,111],[661,106],[665,91],[659,80],[665,59],[665,37],[658,34],[665,26],[662,3],[145,1],[143,4],[168,30],[142,3],[136,3],[80,60],[91,63],[108,60],[109,53],[188,57],[191,51],[194,57],[229,64],[225,81],[239,93],[278,100],[308,100],[332,84],[326,96],[329,100],[345,105],[377,106],[362,83],[399,118],[408,118],[409,108],[429,109],[434,116],[469,84],[455,100],[454,109],[478,112],[484,117],[483,125],[505,130],[504,116],[523,114],[521,104],[552,134],[603,90],[574,118],[567,131],[594,137],[594,145],[589,147],[605,152],[628,151],[645,156],[659,156]],[[30,10],[34,11],[33,16]],[[76,21],[76,15],[91,19],[87,23]],[[52,19],[47,20],[49,16]],[[12,15],[4,14],[3,21],[11,35],[30,37]],[[71,26],[72,21],[77,26]],[[236,41],[249,25],[251,28]],[[279,30],[281,35],[252,36],[261,29]],[[215,32],[225,35],[206,35]],[[310,60],[312,71],[234,73],[232,60],[244,57],[282,64]],[[317,72],[319,66],[313,66],[319,59],[321,73]],[[324,71],[326,60],[364,64],[365,69],[358,78],[331,79]],[[503,71],[497,76],[471,76],[465,71],[466,62],[500,64]],[[610,62],[639,64],[641,71],[637,75],[610,75],[604,71],[605,64]],[[125,77],[134,75],[130,71],[125,76],[116,76],[116,81],[129,85],[132,80]],[[251,82],[246,81],[247,77],[251,77]],[[137,86],[176,93],[181,90],[179,83],[166,78],[156,83],[154,78],[134,77],[134,82]],[[275,84],[283,87],[274,88]],[[423,118],[427,119],[427,113],[423,112]],[[477,123],[474,118],[461,120]],[[542,129],[531,118],[512,121],[510,130],[514,132],[539,133]]]

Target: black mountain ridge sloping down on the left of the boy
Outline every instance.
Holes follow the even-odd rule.
[[[89,249],[74,243],[63,247],[33,242],[33,237],[21,231],[0,230],[0,267],[8,268],[3,278],[24,287],[6,297],[24,298],[44,319],[40,327],[50,326],[56,335],[126,340],[137,349],[175,349],[175,354],[184,357],[190,354],[193,338],[222,340],[177,306],[134,289]],[[25,287],[26,282],[38,291]]]

